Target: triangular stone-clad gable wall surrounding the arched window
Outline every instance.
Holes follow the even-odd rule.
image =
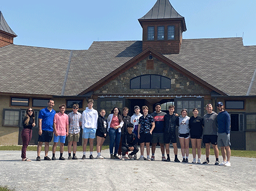
[[[167,64],[159,61],[156,58],[153,58],[154,69],[146,69],[146,59],[143,59],[134,67],[128,69],[124,73],[120,74],[114,80],[110,81],[103,87],[100,87],[96,90],[95,94],[119,94],[120,96],[125,94],[142,94],[145,96],[162,96],[162,95],[186,95],[186,96],[197,96],[210,94],[210,92],[198,85],[195,81],[192,81],[188,77],[180,74],[178,71],[169,67]],[[171,88],[170,89],[130,89],[130,79],[136,76],[145,75],[145,74],[156,74],[166,76],[171,79]]]

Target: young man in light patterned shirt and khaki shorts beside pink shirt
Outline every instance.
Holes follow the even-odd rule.
[[[79,105],[73,104],[73,111],[69,113],[69,135],[67,136],[67,141],[69,144],[67,145],[67,152],[69,153],[69,157],[67,159],[77,160],[76,149],[77,142],[79,141],[80,136],[80,127],[82,125],[82,114],[78,112]],[[71,150],[73,145],[73,157],[71,157]]]

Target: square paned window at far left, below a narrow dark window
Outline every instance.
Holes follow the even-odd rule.
[[[20,110],[3,109],[3,126],[19,127]]]

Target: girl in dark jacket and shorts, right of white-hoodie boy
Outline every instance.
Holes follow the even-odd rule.
[[[104,141],[107,137],[107,121],[105,119],[106,111],[104,109],[100,110],[100,115],[98,117],[98,122],[97,122],[97,130],[96,130],[96,138],[97,138],[97,145],[96,145],[96,150],[97,150],[97,157],[98,159],[104,159],[103,156],[101,156],[101,147],[104,144]]]

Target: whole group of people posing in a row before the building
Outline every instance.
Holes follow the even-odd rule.
[[[93,144],[96,138],[96,151],[98,159],[104,159],[101,155],[101,147],[109,135],[110,137],[110,158],[111,159],[137,159],[139,152],[138,144],[140,144],[140,157],[138,160],[155,160],[156,145],[159,142],[162,153],[162,161],[170,161],[169,145],[172,142],[174,148],[174,162],[180,162],[178,159],[178,147],[176,138],[176,128],[178,127],[178,138],[183,156],[182,162],[189,162],[189,142],[192,145],[192,163],[196,163],[196,149],[198,160],[201,163],[201,144],[202,140],[206,145],[206,161],[209,163],[209,151],[212,144],[216,157],[215,165],[230,166],[230,116],[224,111],[222,102],[217,104],[220,111],[217,115],[213,111],[212,104],[206,105],[207,114],[203,117],[198,116],[198,109],[193,110],[194,116],[187,116],[187,110],[181,110],[181,116],[174,113],[174,105],[168,108],[168,114],[161,111],[161,104],[155,105],[155,112],[148,114],[149,108],[143,106],[143,115],[140,113],[140,107],[134,107],[134,115],[128,116],[129,109],[123,108],[123,112],[119,108],[112,109],[111,114],[105,118],[106,111],[101,109],[98,111],[93,109],[93,99],[88,100],[88,107],[82,112],[78,112],[79,105],[73,105],[73,111],[65,114],[66,105],[59,105],[59,112],[53,110],[54,100],[49,100],[47,108],[39,111],[38,115],[38,145],[37,145],[37,161],[41,160],[40,153],[43,142],[44,160],[56,160],[55,152],[58,142],[60,142],[59,160],[65,160],[63,157],[64,144],[67,137],[68,143],[68,159],[78,159],[76,156],[77,142],[79,141],[80,127],[82,127],[83,138],[83,156],[86,159],[86,148],[89,139],[89,158],[93,157]],[[26,157],[26,148],[32,138],[32,127],[35,127],[35,111],[32,108],[27,109],[23,122],[24,128],[21,133],[22,152],[21,158],[24,161],[31,161]],[[203,136],[202,136],[203,135]],[[203,137],[203,139],[202,139]],[[53,138],[53,156],[48,157],[49,142]],[[223,163],[219,163],[218,145],[221,147]],[[150,157],[150,143],[151,157]],[[144,157],[144,146],[146,145],[146,154]],[[73,146],[73,148],[72,148]],[[164,156],[164,146],[167,153],[167,159]],[[115,147],[115,148],[114,148]],[[73,156],[71,156],[73,151]],[[130,153],[128,153],[130,152]]]

